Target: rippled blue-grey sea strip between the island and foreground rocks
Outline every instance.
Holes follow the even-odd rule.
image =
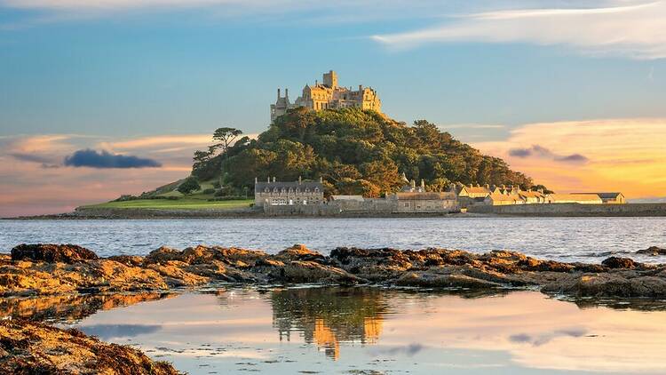
[[[544,259],[599,262],[610,254],[666,247],[665,218],[0,220],[0,251],[19,243],[76,243],[101,256],[147,254],[166,245],[238,246],[269,252],[294,243],[468,251],[514,250]]]

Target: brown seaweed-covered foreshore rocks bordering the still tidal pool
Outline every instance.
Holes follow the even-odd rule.
[[[4,300],[50,296],[53,307],[63,305],[58,301],[65,302],[68,309],[62,314],[77,316],[86,314],[76,307],[80,305],[75,303],[77,299],[99,299],[99,306],[110,308],[220,283],[529,289],[569,297],[656,299],[666,297],[666,265],[616,257],[601,264],[565,263],[515,251],[477,254],[439,248],[339,247],[323,255],[304,245],[277,254],[200,245],[184,250],[162,247],[145,257],[99,258],[93,251],[71,244],[22,244],[11,254],[0,256],[0,295]],[[107,297],[128,292],[143,294],[130,299]],[[131,347],[17,319],[23,315],[20,305],[12,306],[7,311],[12,310],[9,317],[14,319],[0,325],[0,363],[14,373],[89,373],[105,368],[120,371],[116,373],[177,373],[168,363],[153,362]],[[53,343],[59,345],[54,347]],[[126,364],[119,366],[117,361]]]

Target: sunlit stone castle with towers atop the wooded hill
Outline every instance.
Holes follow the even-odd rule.
[[[328,108],[356,107],[361,109],[372,109],[382,113],[382,100],[379,100],[377,92],[372,87],[363,87],[359,84],[359,90],[352,87],[341,87],[337,85],[337,73],[329,70],[324,73],[323,82],[318,81],[314,85],[305,84],[303,93],[294,102],[289,102],[289,91],[284,89],[281,96],[278,89],[278,97],[275,104],[271,104],[271,123],[275,118],[282,116],[289,108],[305,107],[315,111]]]

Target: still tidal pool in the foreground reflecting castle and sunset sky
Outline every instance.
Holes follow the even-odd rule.
[[[40,314],[192,374],[664,373],[663,302],[601,302],[536,291],[226,288],[5,299],[0,312]]]

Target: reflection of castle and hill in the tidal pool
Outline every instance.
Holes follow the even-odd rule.
[[[389,307],[385,293],[373,288],[307,288],[270,293],[273,325],[280,340],[302,333],[331,359],[340,357],[340,343],[377,343]]]

